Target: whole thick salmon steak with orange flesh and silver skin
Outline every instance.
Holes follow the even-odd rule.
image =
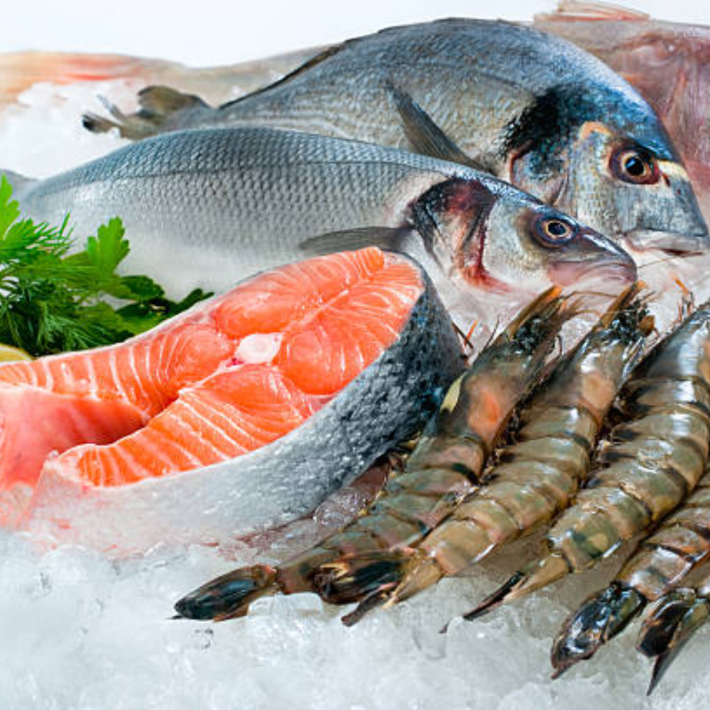
[[[280,525],[413,435],[463,366],[405,256],[257,275],[124,344],[0,366],[6,522],[121,553]]]

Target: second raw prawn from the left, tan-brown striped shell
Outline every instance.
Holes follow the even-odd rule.
[[[408,559],[393,559],[402,581],[388,603],[462,572],[569,506],[608,410],[652,329],[640,288],[637,283],[624,291],[532,393],[518,417],[515,443],[503,449],[487,485],[470,493]]]

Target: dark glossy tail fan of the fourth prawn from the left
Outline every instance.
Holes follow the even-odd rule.
[[[569,667],[591,658],[628,626],[645,603],[638,591],[618,582],[589,596],[567,617],[552,644],[552,677],[558,678]]]

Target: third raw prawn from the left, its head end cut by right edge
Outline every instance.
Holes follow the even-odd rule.
[[[704,305],[635,368],[621,395],[622,423],[611,430],[574,506],[547,532],[547,555],[514,574],[471,618],[589,569],[679,506],[708,463],[709,393],[710,309]]]

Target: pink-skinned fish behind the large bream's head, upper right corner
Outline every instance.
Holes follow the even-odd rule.
[[[569,0],[536,16],[535,27],[596,55],[638,89],[672,136],[709,219],[710,27]]]

